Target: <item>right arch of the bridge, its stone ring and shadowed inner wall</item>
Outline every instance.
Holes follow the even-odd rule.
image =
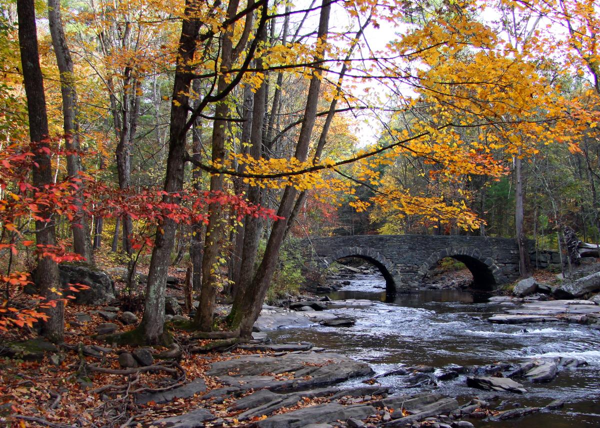
[[[464,266],[473,274],[473,288],[495,290],[499,284],[508,282],[502,269],[497,266],[493,258],[485,257],[478,248],[471,246],[451,247],[434,252],[419,267],[421,279],[425,278],[427,272],[445,257],[451,257],[464,263]]]

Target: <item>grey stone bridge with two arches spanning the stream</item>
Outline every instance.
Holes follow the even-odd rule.
[[[508,238],[361,235],[317,238],[310,242],[319,263],[325,266],[346,257],[374,264],[385,278],[388,291],[419,285],[428,270],[445,257],[463,262],[473,274],[473,287],[480,290],[494,290],[519,276],[517,243]]]

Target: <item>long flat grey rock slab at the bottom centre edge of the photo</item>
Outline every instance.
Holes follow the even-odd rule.
[[[257,422],[260,428],[301,428],[308,424],[331,423],[348,418],[364,419],[377,412],[373,406],[342,406],[326,403],[299,409],[280,415],[273,415]]]

